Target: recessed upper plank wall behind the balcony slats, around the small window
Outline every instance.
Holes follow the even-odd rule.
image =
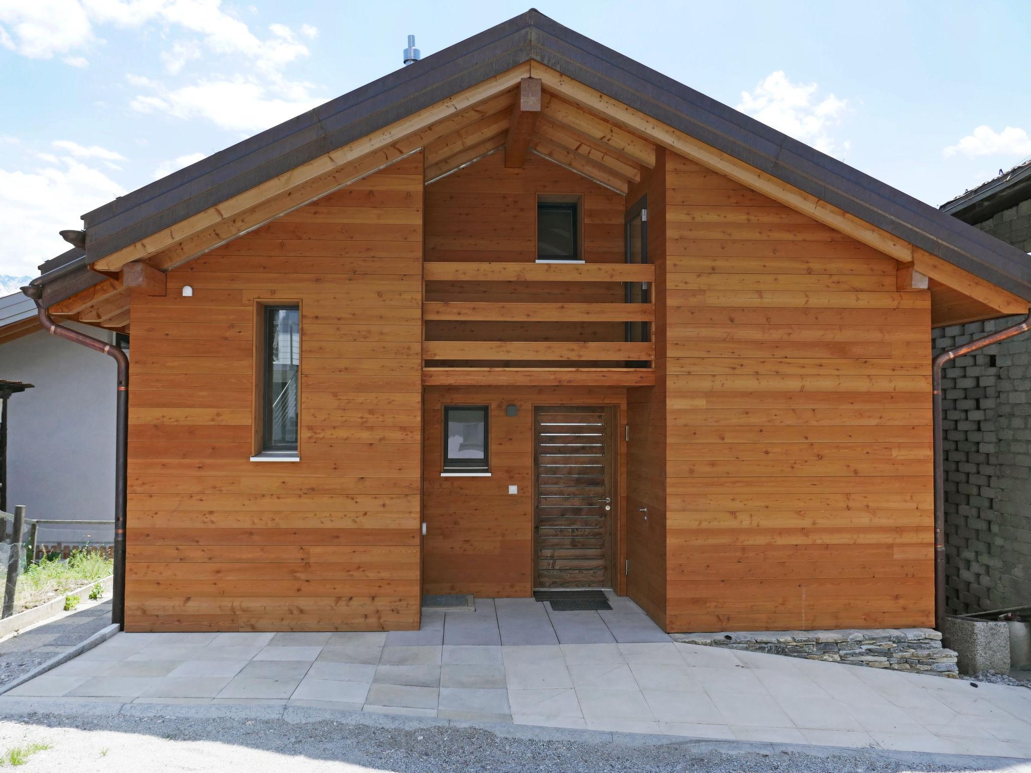
[[[584,266],[536,265],[537,196],[578,199],[583,208]],[[558,164],[530,154],[521,169],[506,169],[504,154],[495,153],[426,188],[426,300],[434,310],[441,303],[455,304],[591,304],[595,307],[622,305],[620,281],[585,281],[593,264],[623,264],[624,197]],[[470,275],[435,279],[443,273],[434,263],[522,264],[526,271],[576,272],[569,281],[534,280],[532,275],[508,272],[514,280],[481,279]],[[504,269],[498,269],[504,270]],[[468,270],[466,271],[468,273]],[[496,275],[488,271],[485,275]],[[604,277],[601,277],[604,278]],[[602,306],[602,307],[604,307]],[[450,317],[455,317],[452,314]],[[623,340],[623,322],[591,317],[476,320],[444,318],[437,313],[426,322],[427,341],[579,341],[618,342]],[[431,351],[431,354],[433,354]],[[506,367],[539,360],[530,352],[508,360],[458,359],[440,347],[439,361],[427,364],[450,366]],[[473,352],[474,354],[474,352]],[[617,352],[622,356],[622,352]],[[603,357],[611,356],[602,352]],[[517,359],[518,358],[518,359]],[[608,365],[611,362],[578,361],[566,365]],[[622,364],[621,364],[622,365]]]

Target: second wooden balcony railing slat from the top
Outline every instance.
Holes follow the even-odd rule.
[[[651,303],[465,303],[428,301],[427,320],[470,322],[653,322]]]

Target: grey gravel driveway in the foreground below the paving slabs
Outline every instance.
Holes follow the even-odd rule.
[[[692,773],[901,773],[901,771],[1002,771],[1020,763],[995,758],[943,758],[916,752],[849,751],[740,742],[674,741],[641,736],[542,730],[534,738],[505,737],[476,728],[413,726],[400,717],[372,724],[322,718],[304,712],[293,718],[191,716],[188,706],[167,707],[173,716],[124,714],[71,716],[34,714],[0,721],[0,752],[19,745],[48,743],[24,767],[61,769],[74,760],[105,773],[161,771],[247,771],[248,773],[343,773],[344,771],[491,771],[492,773],[597,773],[598,771],[692,771]],[[201,709],[203,714],[203,709]],[[427,721],[427,720],[419,720]],[[505,733],[506,731],[501,731]],[[578,740],[574,740],[578,739]],[[743,749],[755,749],[744,751]],[[979,764],[978,764],[979,763]]]

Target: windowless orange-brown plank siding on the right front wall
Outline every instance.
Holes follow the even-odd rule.
[[[672,153],[664,196],[665,405],[630,411],[666,449],[667,630],[933,625],[929,292]]]

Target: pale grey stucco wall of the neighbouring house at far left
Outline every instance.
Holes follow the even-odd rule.
[[[113,341],[111,333],[70,327]],[[8,508],[26,505],[29,517],[113,517],[111,358],[40,330],[0,346],[0,378],[35,384],[8,403]],[[107,525],[41,526],[39,541],[110,542],[113,534]]]

